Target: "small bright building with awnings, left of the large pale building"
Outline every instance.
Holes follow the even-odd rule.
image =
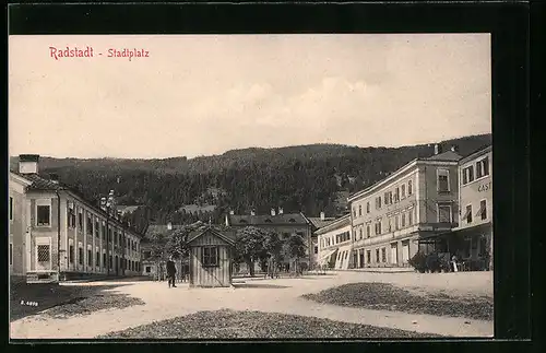
[[[351,215],[344,215],[319,228],[316,233],[319,243],[318,263],[321,267],[346,270],[352,256]]]

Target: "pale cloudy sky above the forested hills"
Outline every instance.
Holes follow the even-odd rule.
[[[124,48],[147,57],[108,57]],[[10,36],[9,151],[431,143],[491,132],[490,72],[489,34]]]

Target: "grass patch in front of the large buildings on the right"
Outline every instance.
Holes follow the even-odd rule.
[[[492,298],[450,296],[446,293],[412,294],[390,283],[349,283],[302,297],[318,303],[376,310],[428,314],[492,320]]]

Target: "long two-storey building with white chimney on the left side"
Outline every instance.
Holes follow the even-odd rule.
[[[114,208],[94,205],[55,175],[39,175],[38,163],[38,155],[21,155],[19,172],[10,173],[13,273],[27,282],[138,274],[142,235]]]

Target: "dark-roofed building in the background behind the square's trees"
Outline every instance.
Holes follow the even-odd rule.
[[[234,230],[246,226],[256,226],[265,231],[275,232],[281,239],[287,239],[292,235],[299,235],[306,244],[306,258],[301,262],[307,266],[312,266],[313,261],[313,242],[312,242],[312,225],[302,213],[284,213],[280,208],[278,212],[271,209],[271,214],[257,215],[254,212],[250,214],[226,214],[226,226]],[[286,259],[288,262],[288,259]]]

